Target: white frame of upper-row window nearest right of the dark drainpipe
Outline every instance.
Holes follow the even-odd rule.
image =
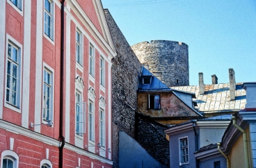
[[[79,40],[78,40],[78,37],[79,37]],[[78,46],[80,47],[79,51],[77,50]],[[77,28],[77,31],[76,31],[76,60],[77,60],[77,65],[79,66],[79,69],[81,69],[82,71],[83,69],[83,33],[79,30],[79,28]]]

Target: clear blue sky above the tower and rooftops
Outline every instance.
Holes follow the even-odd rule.
[[[255,0],[102,0],[130,45],[173,40],[189,45],[190,85],[216,74],[228,83],[256,81]]]

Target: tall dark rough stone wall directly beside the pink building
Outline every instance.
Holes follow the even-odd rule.
[[[112,144],[113,167],[118,167],[118,133],[125,131],[134,137],[135,110],[137,109],[138,78],[141,63],[118,28],[109,10],[106,22],[117,56],[112,60]]]

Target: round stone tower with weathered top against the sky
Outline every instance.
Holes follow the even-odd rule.
[[[138,60],[168,86],[189,85],[189,46],[183,42],[152,40],[131,46]]]

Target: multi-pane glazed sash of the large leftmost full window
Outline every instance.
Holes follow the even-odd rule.
[[[8,42],[6,66],[6,103],[19,108],[20,99],[20,51],[15,44]]]

